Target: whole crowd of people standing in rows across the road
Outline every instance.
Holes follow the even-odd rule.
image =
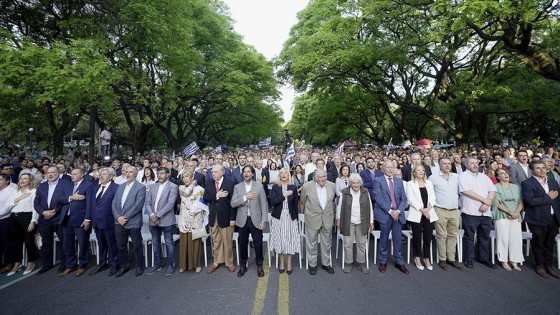
[[[404,230],[410,230],[412,253],[407,255],[418,270],[434,268],[434,230],[441,269],[474,268],[475,261],[497,268],[490,250],[495,230],[499,263],[507,271],[521,271],[526,229],[532,234],[536,273],[560,278],[553,268],[560,222],[558,160],[554,148],[300,149],[289,160],[278,151],[197,152],[176,158],[151,153],[124,161],[113,156],[92,165],[84,156],[6,156],[0,172],[0,263],[7,276],[21,270],[29,274],[41,258],[37,274],[43,274],[55,265],[57,239],[62,253],[58,275],[81,276],[90,265],[94,233],[99,262],[89,266],[88,274],[109,270],[110,276],[121,277],[135,269],[136,276],[152,275],[165,267],[171,276],[176,267],[201,272],[202,239],[211,237],[213,262],[207,273],[224,264],[243,277],[252,246],[262,277],[263,232],[270,225],[268,246],[279,255],[278,272],[288,275],[292,257],[303,248],[311,275],[319,263],[333,274],[333,231],[336,240],[338,234],[343,240],[344,273],[353,268],[370,272],[368,235],[376,231],[379,271],[388,270],[392,242],[394,266],[408,274],[400,237]],[[154,254],[149,268],[146,234]]]

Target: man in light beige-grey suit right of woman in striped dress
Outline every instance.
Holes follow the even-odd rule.
[[[317,246],[321,235],[322,268],[333,274],[330,258],[332,227],[334,224],[335,185],[327,181],[327,172],[315,171],[315,179],[303,185],[301,203],[305,212],[305,233],[309,273],[317,274]]]

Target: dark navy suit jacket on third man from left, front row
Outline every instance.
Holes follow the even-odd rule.
[[[91,192],[87,195],[86,220],[91,220],[95,228],[114,229],[115,217],[113,216],[113,198],[119,188],[119,185],[109,182],[109,186],[105,188],[103,196],[97,201],[96,194],[101,188],[101,184],[93,186]]]

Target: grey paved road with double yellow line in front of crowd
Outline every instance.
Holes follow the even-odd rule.
[[[59,278],[51,270],[0,290],[0,314],[560,314],[560,279],[540,278],[528,260],[522,272],[475,263],[472,270],[409,265],[409,275],[392,267],[381,274],[372,264],[363,275],[344,274],[339,255],[334,275],[299,267],[280,275],[273,266],[260,279],[254,261],[243,278],[224,267],[212,275],[122,278],[107,271]]]

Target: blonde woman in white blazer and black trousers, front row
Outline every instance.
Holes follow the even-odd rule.
[[[434,210],[436,194],[434,185],[426,179],[423,165],[412,169],[412,179],[406,185],[406,197],[410,204],[407,220],[412,226],[412,254],[416,268],[424,270],[421,257],[428,270],[432,270],[430,262],[430,243],[434,232],[434,222],[438,217]]]

